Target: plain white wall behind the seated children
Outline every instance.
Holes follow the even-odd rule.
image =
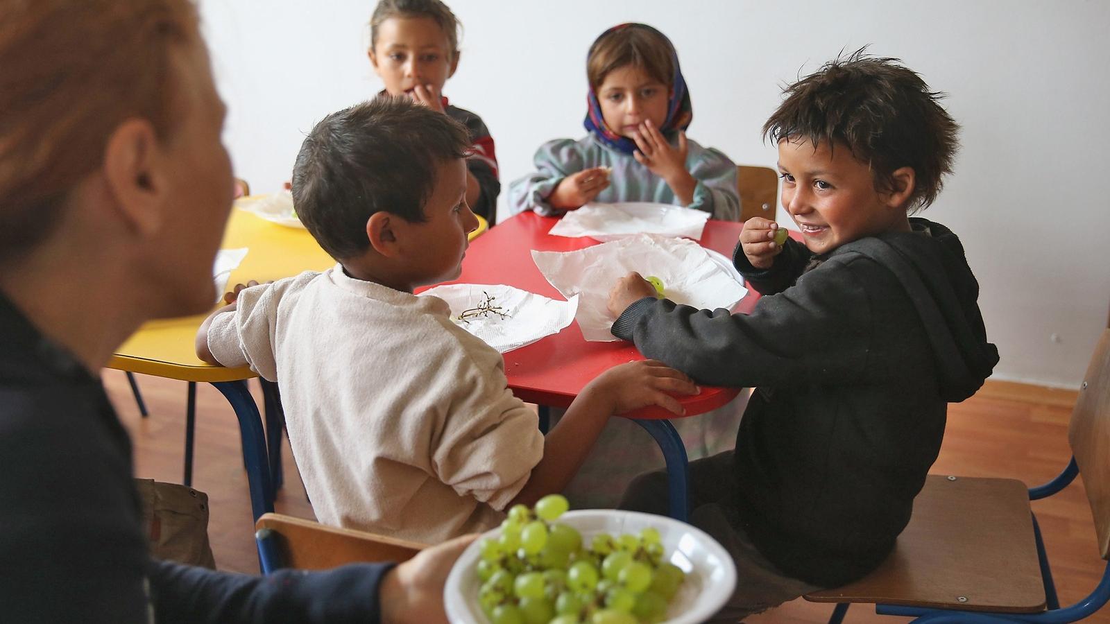
[[[1074,386],[1110,308],[1110,3],[1100,0],[452,0],[463,57],[445,92],[483,117],[502,182],[535,148],[584,133],[585,54],[643,21],[678,49],[690,137],[774,165],[759,128],[784,82],[841,50],[899,57],[963,125],[956,174],[925,217],[959,233],[1001,362],[995,379]],[[289,178],[303,133],[381,89],[373,0],[201,0],[226,143],[253,190]],[[504,198],[504,192],[503,192]],[[502,202],[504,209],[504,201]],[[779,214],[780,222],[789,219]]]

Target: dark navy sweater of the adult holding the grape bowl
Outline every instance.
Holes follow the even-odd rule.
[[[152,561],[103,388],[0,293],[0,621],[377,622],[389,568],[259,577]]]

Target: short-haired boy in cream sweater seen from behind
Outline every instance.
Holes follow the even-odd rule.
[[[506,388],[501,354],[413,289],[458,276],[466,129],[382,95],[310,132],[293,169],[297,214],[339,261],[248,288],[201,325],[198,355],[278,381],[317,519],[427,543],[484,531],[557,492],[613,413],[697,392],[653,362],[591,382],[544,439]]]

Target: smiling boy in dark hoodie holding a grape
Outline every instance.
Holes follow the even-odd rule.
[[[783,207],[805,243],[751,219],[734,261],[750,315],[613,290],[613,333],[703,383],[758,386],[735,452],[690,464],[692,522],[736,560],[741,617],[869,573],[890,553],[937,457],[948,402],[998,362],[979,285],[950,230],[908,218],[951,171],[958,127],[897,59],[862,50],[786,89],[764,125]],[[662,512],[666,481],[622,506]]]

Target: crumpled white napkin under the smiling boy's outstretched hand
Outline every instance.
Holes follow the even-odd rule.
[[[533,251],[532,259],[563,296],[582,298],[578,326],[589,341],[617,340],[606,305],[609,290],[630,271],[658,278],[667,299],[694,308],[731,309],[748,293],[724,256],[687,239],[639,234],[578,251]]]

